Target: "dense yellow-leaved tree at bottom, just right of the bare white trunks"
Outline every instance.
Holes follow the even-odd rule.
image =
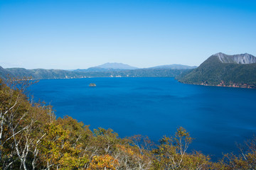
[[[40,151],[46,169],[78,169],[89,161],[87,155],[82,154],[82,144],[70,141],[69,130],[56,122],[46,125],[45,130]]]

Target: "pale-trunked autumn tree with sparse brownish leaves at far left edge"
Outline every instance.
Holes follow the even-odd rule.
[[[0,80],[2,169],[14,169],[17,164],[27,169],[28,160],[31,160],[31,155],[38,152],[36,145],[44,136],[39,131],[40,125],[48,121],[48,107],[41,106],[40,103],[29,103],[24,95],[26,88],[33,83],[34,81],[28,79],[9,79],[5,83]]]

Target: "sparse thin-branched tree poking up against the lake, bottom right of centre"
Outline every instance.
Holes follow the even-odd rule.
[[[182,127],[177,128],[174,137],[164,136],[160,145],[153,150],[156,155],[155,169],[205,169],[208,166],[209,157],[196,152],[186,153],[193,138]]]

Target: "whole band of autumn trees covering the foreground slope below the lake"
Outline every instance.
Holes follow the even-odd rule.
[[[256,139],[241,155],[219,162],[187,153],[193,138],[183,128],[159,145],[148,137],[120,138],[113,130],[55,118],[51,106],[24,94],[32,81],[0,79],[0,169],[255,169]],[[7,85],[8,84],[8,85]]]

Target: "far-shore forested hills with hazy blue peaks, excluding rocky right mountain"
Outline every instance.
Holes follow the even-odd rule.
[[[31,79],[75,79],[90,77],[176,77],[181,73],[196,68],[181,64],[161,65],[156,67],[139,69],[122,63],[105,63],[88,69],[23,69],[2,68],[0,77],[31,77]]]

